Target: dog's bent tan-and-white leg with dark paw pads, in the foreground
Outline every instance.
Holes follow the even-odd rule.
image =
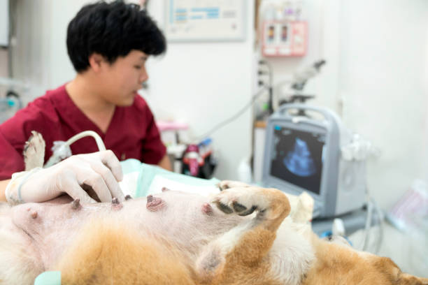
[[[201,284],[272,282],[266,255],[290,213],[287,196],[276,189],[238,187],[217,194],[213,203],[226,214],[257,214],[208,244],[197,261]]]

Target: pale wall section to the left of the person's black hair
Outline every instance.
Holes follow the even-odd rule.
[[[66,29],[78,10],[90,0],[15,0],[13,77],[29,85],[24,101],[45,94],[74,78],[66,50]]]

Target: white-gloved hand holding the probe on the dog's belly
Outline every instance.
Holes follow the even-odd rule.
[[[101,202],[111,202],[113,197],[122,202],[124,195],[117,183],[122,177],[122,167],[112,151],[78,154],[50,168],[14,173],[6,198],[11,204],[43,202],[67,193],[82,203],[96,203],[81,187],[86,184]]]

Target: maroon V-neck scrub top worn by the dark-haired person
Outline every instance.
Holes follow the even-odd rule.
[[[152,112],[141,96],[136,95],[131,106],[116,107],[110,125],[103,133],[71,101],[65,85],[62,85],[36,98],[0,125],[0,180],[24,170],[22,150],[33,130],[45,139],[45,162],[52,155],[51,147],[55,140],[66,141],[88,130],[98,133],[106,149],[113,150],[120,160],[138,159],[157,164],[166,154]],[[73,154],[97,151],[92,137],[82,138],[71,145]]]

